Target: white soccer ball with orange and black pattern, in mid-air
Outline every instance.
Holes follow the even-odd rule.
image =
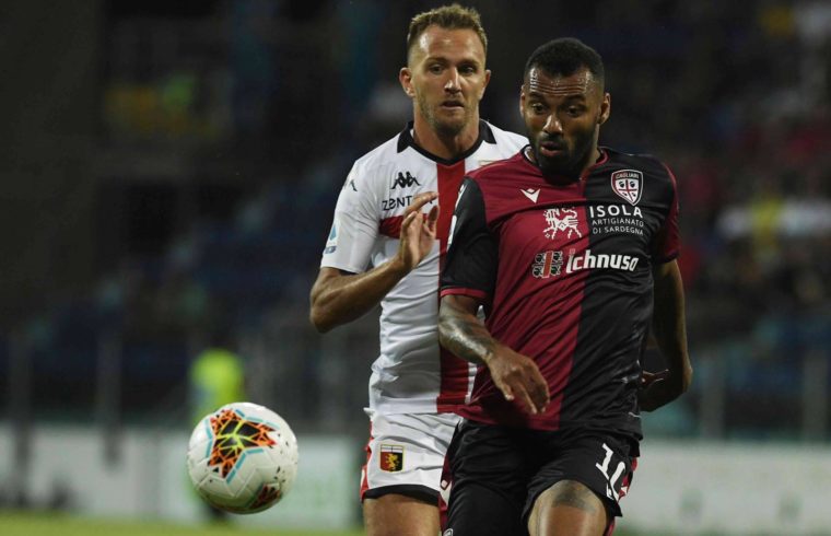
[[[261,512],[289,492],[297,474],[297,440],[270,409],[234,403],[206,416],[188,444],[188,474],[210,504],[237,514]]]

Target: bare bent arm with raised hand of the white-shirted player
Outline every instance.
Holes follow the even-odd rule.
[[[320,268],[309,295],[309,321],[318,331],[326,333],[366,314],[430,253],[438,207],[426,214],[421,209],[437,197],[434,191],[420,194],[407,207],[398,254],[387,263],[359,275]]]

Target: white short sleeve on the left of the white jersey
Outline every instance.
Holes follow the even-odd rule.
[[[354,165],[338,196],[320,267],[360,273],[370,265],[378,236],[378,203],[373,182]]]

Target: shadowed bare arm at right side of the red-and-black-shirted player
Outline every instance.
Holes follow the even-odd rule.
[[[655,311],[653,329],[667,370],[645,373],[644,388],[639,401],[641,409],[655,410],[681,396],[692,382],[692,365],[687,351],[687,322],[683,305],[683,283],[678,263],[672,260],[654,270]]]

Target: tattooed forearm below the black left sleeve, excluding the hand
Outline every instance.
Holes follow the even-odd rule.
[[[484,364],[498,342],[473,314],[442,301],[438,314],[438,342],[455,356]]]

